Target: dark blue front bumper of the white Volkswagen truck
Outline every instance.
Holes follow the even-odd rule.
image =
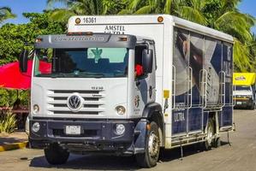
[[[39,122],[38,133],[33,133],[33,123]],[[125,132],[115,133],[116,124],[122,123]],[[80,135],[67,135],[66,126],[80,126]],[[32,119],[29,121],[29,143],[32,148],[45,148],[58,143],[70,151],[128,150],[134,143],[134,121],[73,121]]]

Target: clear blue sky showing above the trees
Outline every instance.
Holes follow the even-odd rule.
[[[17,15],[15,19],[11,19],[6,22],[20,24],[28,22],[28,20],[22,16],[23,12],[43,12],[44,9],[48,8],[46,1],[47,0],[0,0],[0,7],[8,6],[12,9],[12,12]],[[60,7],[62,4],[58,3],[55,6]],[[239,5],[239,9],[242,13],[247,13],[256,17],[255,0],[242,0]],[[256,27],[253,27],[253,32],[256,33]]]

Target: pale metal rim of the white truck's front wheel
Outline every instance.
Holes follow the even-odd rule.
[[[159,148],[159,139],[156,133],[150,133],[149,140],[148,140],[148,152],[149,155],[154,158],[158,155],[158,148]]]

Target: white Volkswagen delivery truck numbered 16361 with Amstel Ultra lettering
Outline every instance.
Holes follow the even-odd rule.
[[[150,168],[162,147],[211,148],[234,128],[223,32],[171,15],[73,16],[34,49],[29,144],[51,164],[108,153]]]

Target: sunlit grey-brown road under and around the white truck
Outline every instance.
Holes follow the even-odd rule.
[[[236,132],[222,136],[222,145],[208,151],[196,145],[180,150],[165,150],[158,166],[147,170],[171,171],[256,171],[256,110],[235,110]],[[0,170],[146,170],[138,168],[134,157],[75,156],[62,166],[45,161],[43,150],[12,150],[0,153]]]

